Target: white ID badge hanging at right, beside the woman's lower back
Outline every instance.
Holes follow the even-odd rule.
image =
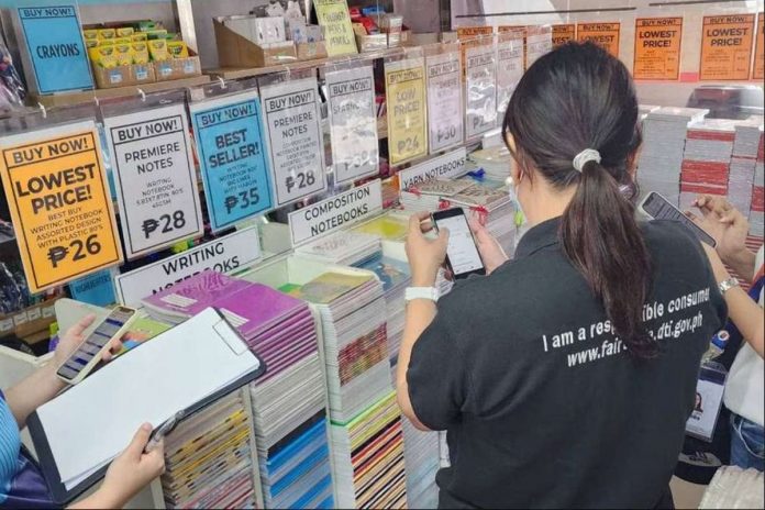
[[[699,381],[696,386],[694,412],[686,422],[688,435],[708,443],[712,442],[714,428],[722,408],[727,377],[728,370],[719,363],[710,362],[701,365]]]

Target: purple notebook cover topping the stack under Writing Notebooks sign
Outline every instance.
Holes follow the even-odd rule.
[[[250,281],[232,278],[214,270],[204,270],[169,289],[157,292],[143,300],[144,304],[169,315],[189,318],[208,307],[214,307],[215,301],[236,293],[247,287]]]

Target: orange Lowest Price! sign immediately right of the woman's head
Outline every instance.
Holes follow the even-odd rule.
[[[680,76],[683,18],[635,20],[635,79],[676,80]]]

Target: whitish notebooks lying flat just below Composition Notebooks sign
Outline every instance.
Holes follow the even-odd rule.
[[[380,237],[354,231],[340,231],[295,248],[302,258],[341,266],[363,266],[382,256]]]

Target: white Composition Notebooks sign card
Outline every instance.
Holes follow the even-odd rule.
[[[347,228],[381,211],[382,186],[380,179],[375,179],[290,212],[288,221],[292,245]]]

